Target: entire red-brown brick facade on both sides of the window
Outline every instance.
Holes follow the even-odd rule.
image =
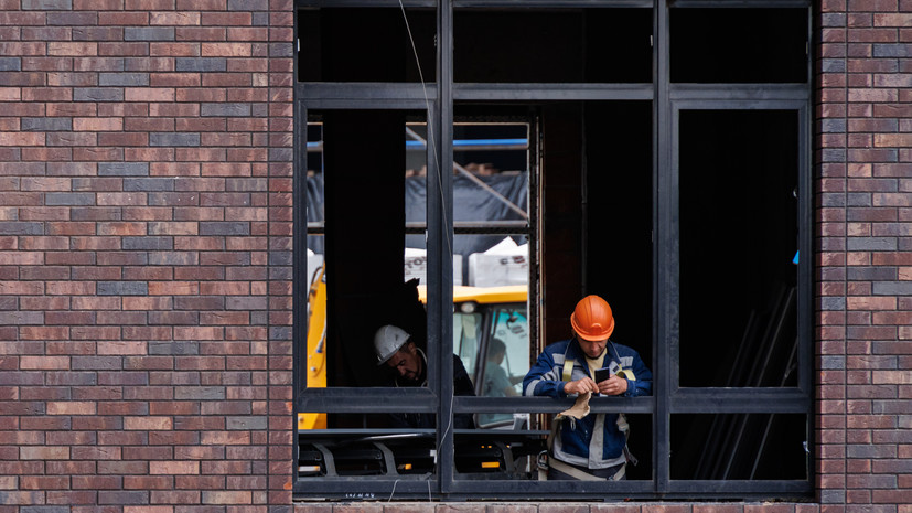
[[[912,513],[912,1],[817,8],[811,504]],[[289,512],[291,0],[0,0],[0,513]]]

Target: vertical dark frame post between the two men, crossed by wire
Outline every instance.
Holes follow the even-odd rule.
[[[431,386],[438,395],[438,475],[440,491],[453,487],[455,460],[453,455],[453,4],[439,0],[437,4],[437,103],[433,116],[437,138],[431,185],[428,182],[428,333],[436,339],[431,348],[437,355],[438,380]],[[429,147],[431,145],[428,145]],[[431,161],[429,160],[429,162]],[[433,209],[432,209],[433,206]],[[436,282],[434,282],[436,281]],[[434,293],[436,292],[436,293]],[[432,367],[431,367],[432,368]]]

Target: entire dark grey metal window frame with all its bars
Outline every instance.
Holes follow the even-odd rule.
[[[452,124],[454,101],[544,103],[581,100],[645,100],[653,106],[653,362],[654,395],[637,398],[600,398],[592,410],[647,414],[653,423],[653,479],[622,482],[579,481],[479,481],[460,480],[454,473],[453,432],[437,431],[438,472],[430,481],[394,479],[298,479],[294,470],[296,498],[350,496],[385,499],[395,491],[396,499],[463,500],[479,496],[503,499],[560,500],[589,496],[642,499],[783,499],[807,498],[813,493],[814,475],[805,480],[673,480],[667,455],[670,451],[673,414],[788,413],[814,418],[813,400],[813,263],[798,263],[798,386],[795,388],[682,388],[677,381],[674,348],[678,344],[677,300],[677,126],[682,109],[786,109],[800,117],[800,201],[798,248],[812,255],[813,193],[811,127],[812,58],[807,57],[807,81],[802,84],[679,84],[669,79],[669,11],[687,8],[801,8],[807,9],[808,44],[812,39],[813,7],[809,0],[403,0],[406,8],[432,8],[437,11],[436,83],[296,83],[294,141],[302,148],[307,113],[310,109],[408,109],[427,110],[429,129],[438,148],[428,145],[429,177],[452,161]],[[399,8],[399,0],[296,0],[294,8]],[[653,81],[646,84],[466,84],[453,83],[454,9],[512,8],[644,8],[653,10]],[[297,15],[294,17],[297,34]],[[444,34],[441,36],[440,34]],[[298,55],[294,55],[296,70]],[[426,100],[427,98],[427,100]],[[430,108],[428,108],[430,105]],[[300,169],[305,156],[294,153],[294,282],[300,284],[307,265],[307,220],[303,180]],[[437,160],[434,160],[434,156]],[[534,156],[533,158],[537,158]],[[452,397],[452,247],[458,232],[452,222],[452,175],[428,181],[428,335],[431,381],[428,388],[322,388],[308,389],[302,383],[303,357],[294,353],[294,410],[335,413],[433,412],[441,418],[466,412],[550,413],[555,400],[546,398]],[[299,200],[299,201],[298,201]],[[449,263],[449,265],[448,265]],[[307,339],[305,287],[294,287],[296,344]],[[665,299],[668,298],[668,299]],[[297,345],[296,345],[297,346]],[[440,400],[447,398],[450,400]],[[569,406],[570,399],[561,405]],[[296,429],[294,457],[298,457]],[[808,437],[809,438],[809,437]],[[808,439],[808,441],[811,441]],[[813,448],[812,448],[813,453]],[[666,455],[666,456],[662,456]],[[356,483],[356,490],[353,487]],[[711,490],[711,492],[707,492]],[[353,492],[355,492],[353,494]]]

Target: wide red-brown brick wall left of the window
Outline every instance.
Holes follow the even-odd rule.
[[[0,0],[0,511],[288,505],[291,1]]]

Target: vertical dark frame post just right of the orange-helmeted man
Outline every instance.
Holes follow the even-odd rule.
[[[656,0],[654,14],[654,303],[657,320],[653,335],[655,412],[653,468],[656,493],[665,493],[670,481],[670,394],[677,387],[677,211],[673,183],[673,127],[669,101],[668,4]]]

